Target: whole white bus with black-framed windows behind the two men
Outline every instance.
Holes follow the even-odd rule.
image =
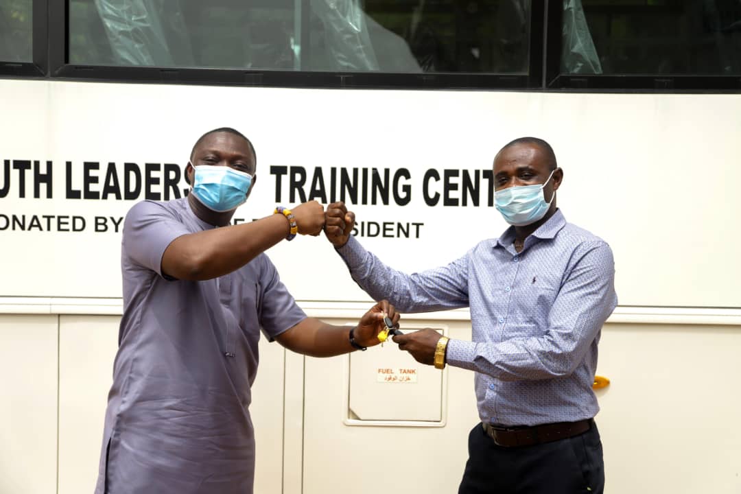
[[[545,138],[616,261],[606,492],[741,493],[740,23],[731,0],[0,0],[0,493],[93,491],[123,218],[187,194],[225,126],[259,158],[234,223],[343,200],[409,273],[499,236],[494,155]],[[371,302],[322,236],[268,255],[310,316]],[[470,340],[471,314],[402,316],[422,327]],[[473,373],[372,350],[262,339],[256,493],[456,491]]]

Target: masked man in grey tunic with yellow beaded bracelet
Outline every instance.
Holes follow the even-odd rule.
[[[352,330],[308,318],[264,251],[322,231],[316,201],[228,226],[255,183],[250,141],[206,133],[186,167],[191,193],[142,201],[124,221],[124,315],[96,494],[249,494],[248,407],[259,332],[289,350],[334,356],[378,344],[381,301]]]

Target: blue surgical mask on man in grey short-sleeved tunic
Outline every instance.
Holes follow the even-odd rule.
[[[236,209],[247,201],[252,176],[230,167],[208,164],[194,166],[191,193],[210,210],[223,213]]]

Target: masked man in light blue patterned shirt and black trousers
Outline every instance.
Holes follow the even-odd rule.
[[[556,208],[563,171],[551,146],[519,138],[494,158],[496,209],[512,226],[447,266],[407,275],[350,236],[354,215],[327,210],[325,231],[353,279],[405,313],[471,308],[473,341],[425,329],[393,341],[422,364],[473,370],[479,417],[460,494],[602,493],[592,390],[602,324],[617,305],[605,241]]]

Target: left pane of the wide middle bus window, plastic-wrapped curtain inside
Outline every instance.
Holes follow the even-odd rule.
[[[72,0],[74,64],[296,68],[296,8],[286,0]]]

